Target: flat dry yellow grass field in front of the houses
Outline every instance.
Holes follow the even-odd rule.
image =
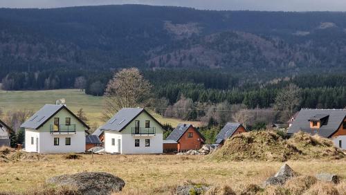
[[[42,156],[43,160],[0,163],[0,192],[25,192],[52,176],[81,171],[106,171],[125,180],[121,194],[169,194],[170,189],[185,180],[210,185],[228,184],[234,190],[246,184],[260,185],[275,174],[282,163],[212,162],[203,156],[175,155],[91,155],[80,160],[66,160],[63,155]],[[336,173],[346,178],[346,161],[289,161],[295,171],[304,175]]]

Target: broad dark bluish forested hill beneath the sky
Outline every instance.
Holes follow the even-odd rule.
[[[214,68],[260,80],[268,73],[340,72],[346,69],[346,13],[2,8],[0,57],[0,80],[29,73],[26,80],[64,78],[61,87],[80,75],[129,66]]]

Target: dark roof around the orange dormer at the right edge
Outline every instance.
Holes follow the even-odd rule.
[[[322,122],[322,126],[319,129],[311,129],[309,120],[318,118],[322,115],[329,115],[328,120]],[[297,133],[298,131],[304,131],[311,134],[318,134],[322,137],[329,138],[340,127],[346,116],[346,110],[334,110],[334,109],[302,109],[292,126],[289,128],[288,133]]]

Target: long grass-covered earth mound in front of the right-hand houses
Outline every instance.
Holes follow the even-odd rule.
[[[340,159],[345,154],[327,138],[296,133],[284,140],[272,131],[252,131],[226,140],[224,146],[211,154],[212,160]]]

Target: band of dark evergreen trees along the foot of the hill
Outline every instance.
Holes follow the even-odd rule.
[[[115,70],[114,72],[118,72]],[[192,102],[244,104],[248,109],[273,107],[275,97],[284,87],[295,84],[301,91],[300,108],[335,108],[346,106],[346,75],[298,75],[257,83],[242,80],[230,72],[163,69],[141,70],[152,84],[156,99],[164,99],[167,106],[183,95]],[[9,73],[2,80],[3,90],[85,89],[89,95],[104,95],[113,73],[98,71],[42,71]]]

